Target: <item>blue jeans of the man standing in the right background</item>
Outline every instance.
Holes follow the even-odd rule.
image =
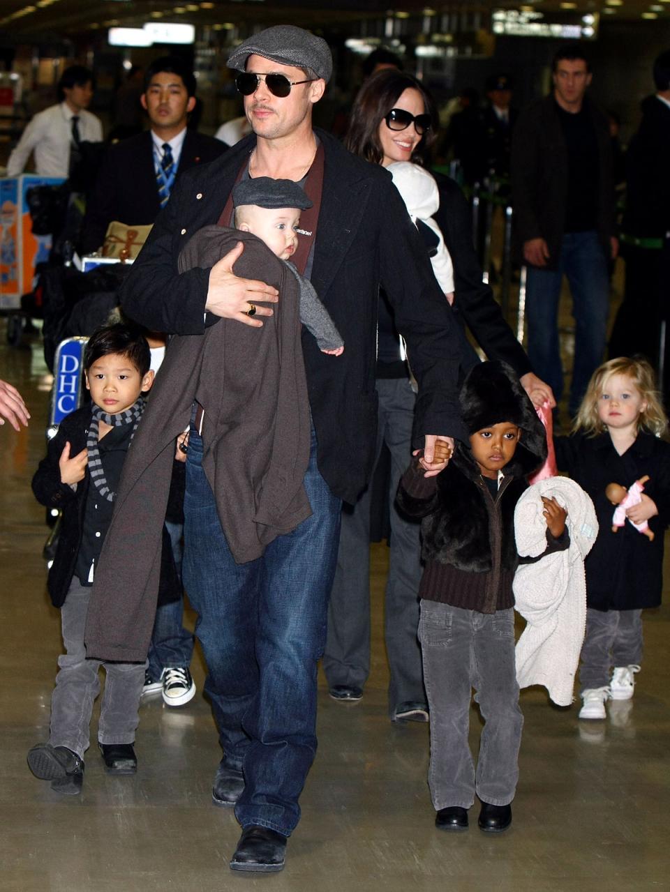
[[[609,274],[598,233],[563,236],[558,268],[528,267],[525,314],[528,320],[528,359],[536,375],[550,384],[557,400],[563,393],[563,368],[558,341],[558,299],[564,276],[570,284],[575,318],[575,359],[569,412],[575,416],[600,365],[607,341]]]

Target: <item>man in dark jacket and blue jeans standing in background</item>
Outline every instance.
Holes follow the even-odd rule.
[[[564,274],[575,317],[575,363],[569,411],[579,408],[605,351],[608,260],[616,256],[614,181],[608,119],[585,95],[589,63],[568,44],[553,62],[554,89],[519,115],[512,139],[517,239],[528,267],[525,312],[528,359],[563,392],[558,299]]]

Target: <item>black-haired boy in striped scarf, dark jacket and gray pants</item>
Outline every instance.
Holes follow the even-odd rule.
[[[32,481],[37,500],[62,511],[47,588],[61,608],[66,653],[58,659],[49,740],[32,747],[28,764],[37,778],[69,795],[80,793],[84,780],[100,666],[106,681],[98,745],[112,774],[136,772],[133,742],[145,680],[144,663],[87,659],[84,628],[121,469],[145,406],[142,394],[153,384],[149,346],[134,328],[104,326],[88,341],[83,365],[92,404],[63,419]]]

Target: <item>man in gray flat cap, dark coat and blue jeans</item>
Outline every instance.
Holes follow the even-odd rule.
[[[181,275],[178,256],[202,227],[230,226],[230,194],[239,180],[270,177],[303,186],[312,206],[302,213],[292,262],[314,285],[346,344],[343,355],[333,359],[303,332],[312,431],[302,484],[311,514],[271,541],[261,557],[236,563],[216,513],[216,496],[225,500],[227,493],[219,491],[216,467],[208,473],[198,461],[202,455],[206,466],[216,448],[208,438],[218,433],[208,434],[202,403],[194,405],[186,461],[184,581],[199,615],[196,634],[209,672],[205,690],[224,752],[213,799],[216,805],[234,805],[243,828],[230,867],[278,871],[284,866],[286,838],[300,818],[298,799],[316,753],[317,662],[326,636],[340,508],[343,500],[354,502],[368,483],[375,448],[379,286],[393,304],[418,380],[415,445],[423,449],[428,475],[444,467],[434,461],[437,437],[465,437],[456,399],[461,342],[390,175],[312,128],[312,108],[332,72],[325,41],[292,26],[269,28],[238,46],[228,65],[238,71],[236,85],[253,133],[217,161],[178,180],[130,271],[122,304],[131,318],[190,344],[201,343],[194,338],[208,343],[209,326],[221,320],[227,325],[236,320],[227,331],[256,326],[261,336],[264,320],[281,313],[282,295],[275,287],[278,273],[273,281],[260,281],[252,265],[245,264],[256,243],[236,244],[211,268]],[[284,265],[277,260],[279,267]],[[159,394],[170,388],[178,392],[181,377],[194,374],[192,367],[180,367],[175,343],[178,338],[170,343],[157,379]],[[203,346],[207,359],[204,354]],[[196,400],[211,405],[212,393],[226,392],[225,383],[212,379],[217,367],[211,359],[206,368],[211,375],[200,373]],[[246,374],[261,376],[262,369],[250,365]],[[174,433],[170,424],[165,424],[166,443]],[[209,425],[211,431],[211,418]],[[144,482],[142,469],[127,475],[120,506],[128,493],[143,491]],[[113,604],[114,586],[121,583],[103,572],[103,561],[96,576],[99,600]],[[120,592],[126,599],[124,615],[103,622],[93,612],[87,630],[92,656],[122,650],[144,659],[144,632],[132,648],[128,640],[124,648],[115,647],[122,637],[119,624],[139,616],[128,604],[131,590],[139,592],[138,601],[146,600],[145,580],[135,579]],[[128,638],[144,625],[134,622]]]

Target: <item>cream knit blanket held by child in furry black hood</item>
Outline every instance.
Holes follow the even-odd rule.
[[[570,547],[517,569],[515,607],[527,622],[517,642],[517,681],[520,688],[542,684],[554,703],[569,706],[586,630],[583,562],[598,535],[598,520],[591,499],[574,480],[541,480],[517,503],[514,527],[522,556],[536,558],[547,546],[542,496],[555,496],[567,508]]]

